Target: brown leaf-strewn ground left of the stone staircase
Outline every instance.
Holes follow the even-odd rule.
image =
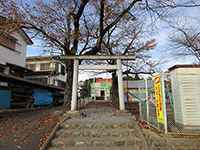
[[[0,115],[0,150],[38,150],[59,121],[61,110]]]

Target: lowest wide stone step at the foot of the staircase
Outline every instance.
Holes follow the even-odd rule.
[[[53,147],[88,147],[88,146],[130,146],[130,145],[143,145],[143,141],[137,137],[115,137],[115,138],[86,138],[86,137],[77,137],[77,138],[55,138],[51,141]]]

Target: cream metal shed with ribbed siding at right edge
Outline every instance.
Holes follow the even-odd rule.
[[[169,71],[176,124],[200,128],[200,65],[176,65]]]

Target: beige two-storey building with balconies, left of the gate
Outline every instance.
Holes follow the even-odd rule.
[[[65,86],[65,66],[50,56],[27,57],[26,67],[33,71],[26,76],[27,79],[47,85]]]

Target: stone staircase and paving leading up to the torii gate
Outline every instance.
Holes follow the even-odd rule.
[[[145,138],[129,113],[90,108],[65,121],[49,150],[147,150]]]

